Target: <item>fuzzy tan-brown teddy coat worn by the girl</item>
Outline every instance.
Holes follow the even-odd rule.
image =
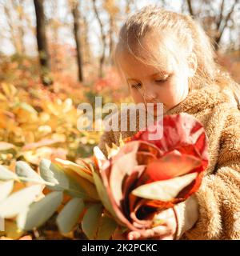
[[[240,239],[240,104],[229,89],[206,86],[193,90],[166,114],[186,112],[202,122],[209,138],[210,163],[198,190],[199,214],[182,239]],[[126,117],[127,118],[127,117]],[[121,132],[122,138],[135,132]],[[102,134],[105,143],[118,145],[120,132]]]

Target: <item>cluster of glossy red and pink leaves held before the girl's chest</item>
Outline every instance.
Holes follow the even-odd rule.
[[[194,194],[208,165],[207,137],[194,116],[182,113],[164,117],[162,138],[150,140],[149,135],[153,130],[158,131],[159,125],[161,122],[126,140],[118,154],[107,160],[100,171],[118,221],[140,233],[153,225],[150,216]],[[167,202],[131,193],[138,186],[190,173],[196,173],[197,178]]]

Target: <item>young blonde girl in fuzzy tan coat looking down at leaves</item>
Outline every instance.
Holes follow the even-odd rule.
[[[134,102],[161,102],[164,114],[194,115],[209,138],[210,163],[198,192],[159,214],[164,225],[145,237],[130,231],[121,238],[240,238],[238,84],[214,57],[210,39],[190,16],[147,6],[122,26],[115,62]],[[134,133],[106,131],[98,145],[104,154],[120,134]]]

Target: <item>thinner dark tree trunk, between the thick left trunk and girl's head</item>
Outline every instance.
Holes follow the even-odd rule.
[[[78,81],[83,81],[82,74],[82,53],[81,53],[81,30],[80,30],[80,12],[78,0],[72,3],[72,14],[74,17],[74,38],[76,42],[77,60],[78,60]]]

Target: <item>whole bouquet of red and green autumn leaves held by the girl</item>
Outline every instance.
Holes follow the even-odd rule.
[[[14,218],[19,230],[34,230],[58,211],[62,234],[80,224],[89,239],[110,239],[119,227],[144,233],[162,224],[155,218],[159,211],[198,190],[208,154],[204,128],[190,114],[165,116],[162,138],[150,140],[159,125],[121,139],[119,146],[106,145],[107,157],[95,147],[80,165],[43,159],[40,174],[25,162],[17,162],[15,173],[1,166],[0,216]],[[31,186],[10,194],[14,182]]]

